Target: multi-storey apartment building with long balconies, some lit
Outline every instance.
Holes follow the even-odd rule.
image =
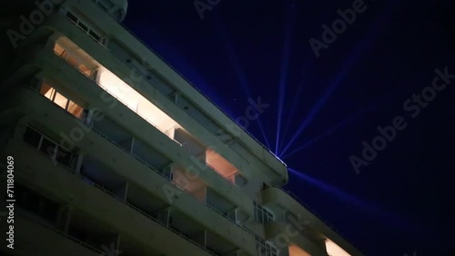
[[[3,23],[2,255],[362,255],[280,188],[284,162],[121,24],[126,0],[19,2]]]

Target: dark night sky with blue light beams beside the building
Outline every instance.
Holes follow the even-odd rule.
[[[455,255],[455,78],[426,88],[455,74],[454,5],[366,0],[325,44],[322,25],[358,0],[218,2],[201,18],[193,1],[129,0],[124,24],[232,118],[268,103],[246,128],[288,164],[285,189],[360,251]]]

